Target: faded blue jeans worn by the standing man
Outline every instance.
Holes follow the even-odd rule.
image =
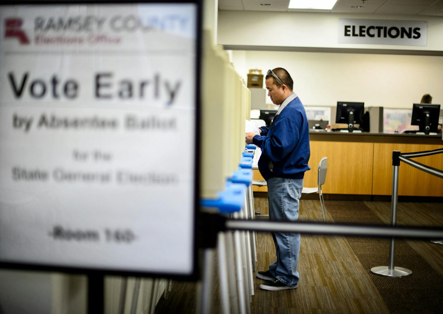
[[[296,221],[303,179],[273,177],[268,180],[269,220]],[[271,275],[287,286],[299,282],[296,270],[300,251],[300,234],[272,232],[276,247],[276,262],[269,265]]]

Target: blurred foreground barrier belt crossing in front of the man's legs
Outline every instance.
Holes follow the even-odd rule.
[[[327,224],[304,221],[226,220],[227,230],[293,232],[317,235],[368,236],[404,239],[443,239],[443,228],[364,224]]]

